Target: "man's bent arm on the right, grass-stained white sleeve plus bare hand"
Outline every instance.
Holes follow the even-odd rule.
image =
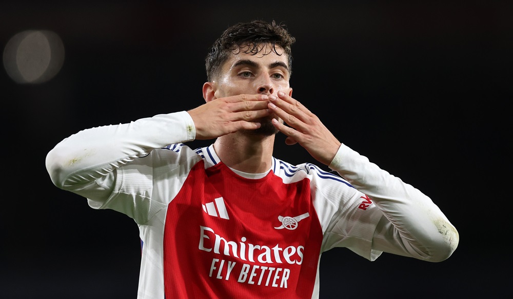
[[[385,218],[378,224],[372,249],[432,262],[447,259],[456,249],[458,231],[420,190],[339,142],[299,101],[285,94],[270,96],[269,108],[289,125],[273,121],[287,135],[287,144],[301,144],[382,210]]]

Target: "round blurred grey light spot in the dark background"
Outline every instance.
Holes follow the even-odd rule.
[[[4,50],[4,68],[17,83],[42,83],[62,68],[64,45],[52,31],[28,30],[14,35]]]

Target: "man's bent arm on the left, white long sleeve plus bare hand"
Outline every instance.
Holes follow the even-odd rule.
[[[257,129],[260,123],[252,121],[269,115],[267,103],[266,95],[238,95],[188,112],[83,130],[58,143],[48,153],[46,167],[57,187],[82,188],[155,148]]]

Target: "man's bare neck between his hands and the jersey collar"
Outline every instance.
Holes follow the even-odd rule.
[[[273,145],[274,135],[261,137],[236,132],[215,140],[214,149],[226,166],[259,174],[271,167]]]

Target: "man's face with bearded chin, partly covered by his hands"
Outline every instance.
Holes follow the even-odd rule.
[[[265,46],[264,46],[265,47]],[[289,85],[288,57],[283,49],[276,47],[279,54],[271,50],[268,44],[256,55],[236,51],[230,55],[227,61],[221,66],[220,75],[214,81],[216,90],[215,98],[222,98],[240,94],[265,94],[275,95],[279,91],[291,95],[292,89]],[[262,127],[248,133],[273,135],[277,130],[271,124],[271,115],[266,119],[259,120]]]

